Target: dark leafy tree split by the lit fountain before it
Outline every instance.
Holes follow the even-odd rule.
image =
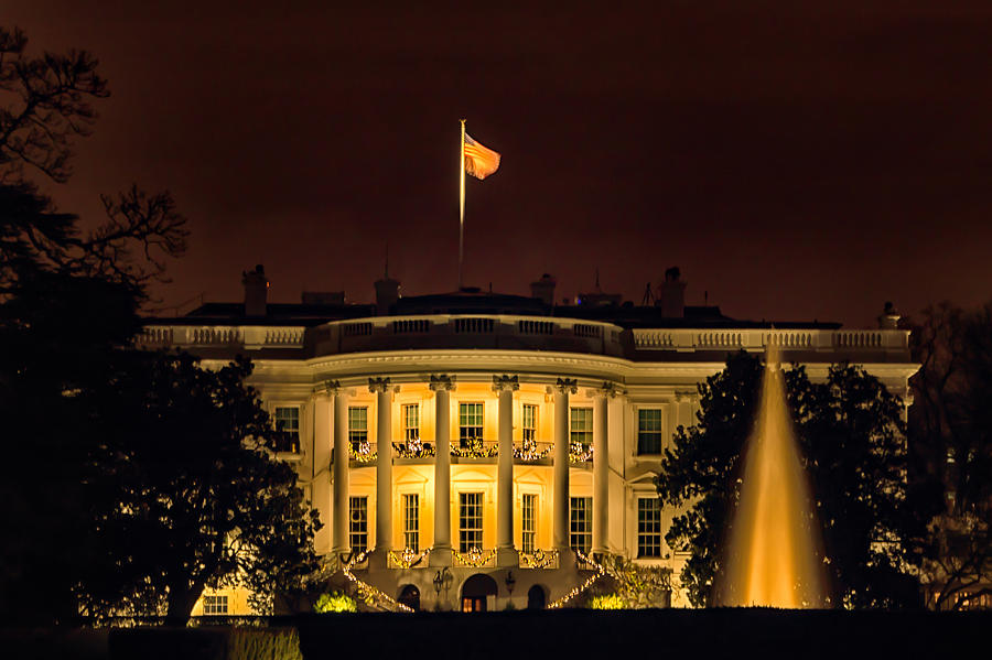
[[[684,507],[666,535],[691,553],[681,574],[690,602],[711,601],[720,552],[740,498],[741,457],[758,403],[764,368],[743,351],[699,386],[699,423],[680,426],[657,479],[666,505]],[[902,402],[863,369],[830,368],[810,382],[805,368],[785,370],[797,440],[823,527],[832,603],[899,606],[914,601],[905,572],[905,442]]]

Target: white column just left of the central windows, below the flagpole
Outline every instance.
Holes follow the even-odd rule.
[[[451,390],[449,376],[431,376],[434,392],[434,545],[431,566],[451,565]]]

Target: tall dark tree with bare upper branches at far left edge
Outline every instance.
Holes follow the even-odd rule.
[[[73,586],[96,551],[83,497],[91,402],[186,230],[169,193],[105,196],[107,220],[84,235],[39,192],[32,176],[68,180],[73,141],[108,91],[88,53],[32,57],[26,45],[0,28],[0,615],[51,623],[77,614]]]

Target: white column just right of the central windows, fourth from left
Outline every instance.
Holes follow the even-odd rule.
[[[514,548],[514,391],[520,389],[517,377],[493,377],[493,391],[499,396],[499,458],[496,472],[496,565],[516,566]]]

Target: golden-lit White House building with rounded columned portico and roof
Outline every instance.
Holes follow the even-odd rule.
[[[644,306],[599,292],[554,305],[547,275],[532,297],[400,297],[386,278],[374,305],[327,293],[267,304],[260,267],[245,284],[244,304],[149,320],[142,345],[207,365],[249,355],[279,456],[321,513],[316,550],[360,558],[355,576],[424,609],[548,606],[590,575],[580,558],[605,552],[677,582],[686,558],[665,542],[677,511],[654,479],[672,433],[696,421],[697,385],[731,351],[775,342],[815,379],[850,360],[904,397],[916,370],[891,310],[876,329],[773,329],[686,306],[675,269]],[[222,596],[240,613],[238,594],[217,593],[195,614]],[[672,604],[687,605],[677,584]]]

